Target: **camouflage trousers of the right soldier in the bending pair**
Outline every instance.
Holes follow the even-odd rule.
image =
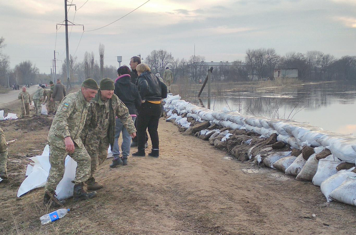
[[[94,135],[91,135],[94,136]],[[86,138],[85,139],[85,149],[87,149],[90,155],[90,177],[93,177],[94,174],[98,171],[99,165],[101,165],[106,157],[108,157],[108,148],[109,148],[109,139],[108,137],[104,138]]]

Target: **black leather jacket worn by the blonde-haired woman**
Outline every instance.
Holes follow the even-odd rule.
[[[141,99],[146,101],[159,101],[167,97],[167,86],[153,75],[145,71],[137,77],[137,88]]]

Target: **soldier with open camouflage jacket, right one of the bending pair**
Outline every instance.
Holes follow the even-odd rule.
[[[114,146],[115,117],[120,118],[132,137],[136,136],[129,109],[114,94],[114,89],[114,81],[110,78],[103,78],[100,81],[100,90],[90,102],[87,120],[81,134],[85,149],[91,157],[90,178],[87,181],[89,190],[103,187],[102,184],[95,182],[93,176],[108,156],[109,144],[111,149]]]

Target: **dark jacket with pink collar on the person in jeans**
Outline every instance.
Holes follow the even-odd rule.
[[[126,105],[130,114],[137,114],[136,109],[141,105],[141,96],[136,85],[130,82],[130,75],[125,75],[116,78],[114,93]]]

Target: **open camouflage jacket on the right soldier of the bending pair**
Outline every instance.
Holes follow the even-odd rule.
[[[101,124],[103,123],[103,114],[105,112],[105,103],[101,101],[100,99],[100,90],[96,94],[96,96],[91,100],[90,106],[88,108],[88,116],[87,120],[85,121],[84,129],[81,133],[81,138],[83,139],[83,142],[85,143],[85,139],[89,137],[96,137],[100,138],[98,136],[98,133],[101,132],[100,127]],[[133,132],[136,132],[135,125],[133,124],[132,118],[129,113],[129,109],[125,106],[124,103],[119,99],[119,97],[116,96],[116,94],[113,94],[110,102],[109,102],[109,128],[107,130],[108,132],[108,139],[109,143],[111,145],[111,149],[114,146],[114,139],[115,139],[115,116],[120,118],[121,122],[124,123],[124,127],[127,129],[127,132],[132,134]]]

